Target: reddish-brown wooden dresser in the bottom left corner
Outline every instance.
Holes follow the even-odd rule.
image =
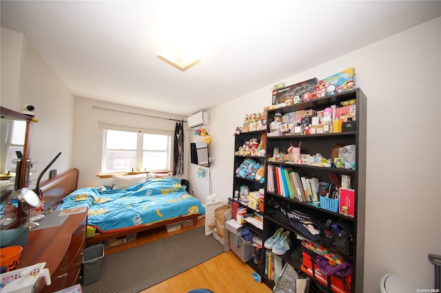
[[[23,247],[19,268],[45,262],[52,284],[46,286],[41,278],[39,292],[55,292],[80,282],[81,263],[85,250],[87,208],[81,213],[58,215],[59,211],[46,217],[65,217],[59,226],[30,230],[28,243]]]

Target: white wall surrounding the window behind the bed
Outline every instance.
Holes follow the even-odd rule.
[[[115,109],[119,111],[97,109],[94,107]],[[72,157],[72,166],[80,171],[79,187],[112,185],[111,179],[101,179],[97,177],[97,175],[101,173],[101,155],[103,149],[103,131],[99,129],[100,121],[122,126],[161,129],[174,132],[176,121],[149,116],[183,120],[183,117],[181,116],[174,116],[168,113],[160,113],[156,111],[116,105],[110,102],[103,102],[101,100],[92,100],[79,97],[76,98],[75,113],[75,151]],[[186,123],[184,123],[184,129],[187,129]],[[187,135],[187,132],[185,132],[184,174],[176,175],[176,177],[179,179],[187,178],[186,176],[189,162],[188,136],[189,135]]]

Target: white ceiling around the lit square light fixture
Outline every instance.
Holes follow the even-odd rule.
[[[440,15],[441,1],[1,1],[1,26],[75,96],[180,116]],[[185,42],[201,63],[182,72],[157,58]]]

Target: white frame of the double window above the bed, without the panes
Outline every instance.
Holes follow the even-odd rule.
[[[115,124],[109,124],[106,122],[99,122],[100,129],[103,133],[103,149],[101,154],[101,173],[102,174],[112,174],[112,173],[121,173],[121,171],[105,171],[105,141],[106,141],[106,133],[107,130],[115,130],[115,131],[127,131],[127,132],[134,132],[137,133],[137,142],[136,142],[136,166],[134,167],[134,171],[145,171],[142,169],[143,167],[143,135],[144,133],[147,134],[159,134],[159,135],[167,135],[169,137],[168,146],[167,146],[167,163],[166,163],[166,169],[161,170],[147,170],[147,171],[170,171],[172,170],[172,146],[174,146],[174,131],[168,131],[163,129],[147,129],[147,128],[141,128],[141,127],[130,127],[130,126],[123,126],[123,125],[115,125]],[[147,150],[147,151],[154,151],[154,150]],[[162,153],[163,151],[161,151]],[[130,167],[127,172],[132,171]]]

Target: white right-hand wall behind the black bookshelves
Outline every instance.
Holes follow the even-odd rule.
[[[271,104],[272,85],[349,67],[356,68],[356,85],[367,96],[364,291],[379,292],[386,272],[433,287],[427,255],[441,254],[440,17],[209,111],[213,192],[232,196],[232,134],[246,113]]]

